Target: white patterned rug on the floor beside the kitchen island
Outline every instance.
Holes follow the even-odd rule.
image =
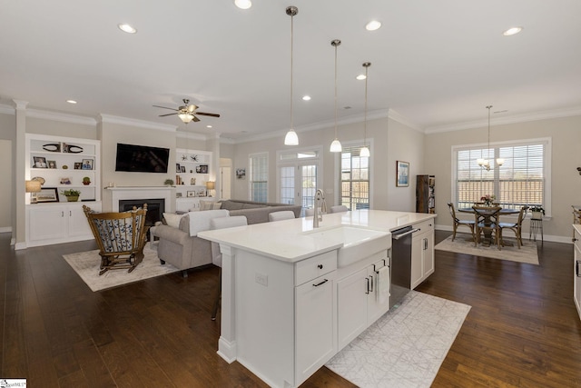
[[[325,366],[360,388],[428,388],[469,310],[410,291]]]

